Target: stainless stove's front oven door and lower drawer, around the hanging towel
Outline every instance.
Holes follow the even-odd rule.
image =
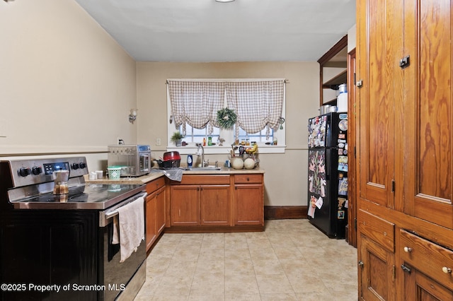
[[[103,258],[99,263],[103,264],[99,268],[101,273],[100,282],[105,285],[105,290],[99,296],[100,300],[115,300],[115,298],[132,300],[137,295],[146,278],[146,242],[142,240],[137,248],[124,262],[120,262],[120,244],[113,244],[113,219],[118,218],[117,208],[125,206],[127,203],[137,201],[139,197],[145,198],[146,192],[132,196],[122,201],[113,208],[100,213],[100,231],[103,235]],[[146,219],[145,219],[146,230]],[[127,297],[129,296],[129,297]],[[132,297],[130,297],[132,296]]]

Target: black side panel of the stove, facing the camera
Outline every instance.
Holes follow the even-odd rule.
[[[98,283],[97,211],[1,210],[0,225],[0,300],[97,300],[81,286]]]

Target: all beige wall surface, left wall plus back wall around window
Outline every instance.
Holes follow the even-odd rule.
[[[0,40],[0,159],[80,153],[96,170],[117,137],[150,144],[159,155],[167,78],[287,78],[287,150],[260,155],[265,203],[306,205],[306,123],[319,112],[316,62],[135,63],[70,0],[0,1]],[[135,124],[127,121],[132,107],[139,109]]]

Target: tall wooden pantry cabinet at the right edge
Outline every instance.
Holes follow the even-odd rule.
[[[360,300],[453,300],[452,6],[357,0]]]

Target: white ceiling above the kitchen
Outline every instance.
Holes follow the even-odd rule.
[[[76,0],[137,61],[317,61],[355,0]]]

